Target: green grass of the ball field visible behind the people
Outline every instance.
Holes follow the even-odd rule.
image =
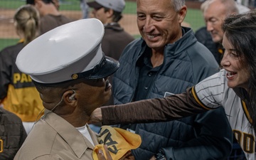
[[[60,0],[60,11],[80,11],[79,0]],[[26,4],[26,0],[0,0],[0,9],[17,9],[19,6]],[[136,3],[126,1],[126,6],[123,11],[124,14],[136,14]],[[204,26],[203,16],[199,9],[188,9],[185,21],[190,23],[193,31],[196,31],[201,26]],[[139,35],[135,35],[138,38]],[[18,39],[4,39],[0,38],[0,50],[6,46],[14,45]]]

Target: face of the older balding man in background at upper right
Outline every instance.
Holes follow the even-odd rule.
[[[221,43],[223,39],[222,23],[226,16],[226,6],[220,1],[213,1],[203,12],[207,31],[215,43]]]

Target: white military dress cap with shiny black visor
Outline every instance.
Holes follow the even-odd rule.
[[[96,18],[66,23],[28,43],[18,53],[16,65],[41,83],[105,78],[119,63],[102,52],[103,35],[104,26]]]

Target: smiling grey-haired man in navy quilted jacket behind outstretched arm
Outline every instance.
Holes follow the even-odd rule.
[[[137,0],[142,38],[129,43],[119,58],[114,104],[181,93],[218,72],[210,51],[196,41],[191,28],[181,26],[186,12],[184,0]],[[166,159],[224,159],[232,148],[232,130],[223,109],[174,122],[119,127],[141,135],[141,146],[132,150],[139,160],[154,154],[156,159],[161,154]]]

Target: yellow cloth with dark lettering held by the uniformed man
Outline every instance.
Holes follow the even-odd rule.
[[[131,149],[137,149],[142,144],[142,139],[139,134],[134,134],[124,129],[117,127],[102,126],[100,130],[100,137],[98,142],[93,149],[92,157],[94,160],[97,158],[97,149],[102,149],[105,158],[107,159],[104,145],[107,144],[107,149],[110,151],[110,155],[113,160],[121,159],[127,151]]]

